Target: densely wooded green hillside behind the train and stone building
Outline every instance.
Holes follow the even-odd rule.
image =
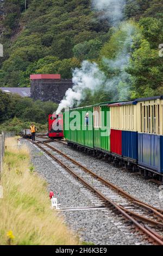
[[[0,86],[29,86],[32,73],[60,73],[71,78],[72,69],[83,60],[95,61],[106,77],[118,70],[106,68],[103,58],[116,59],[123,50],[127,32],[122,24],[112,27],[108,19],[99,19],[91,0],[5,0],[4,58]],[[136,32],[129,50],[131,98],[163,93],[163,1],[127,0],[122,23],[131,22]],[[110,100],[110,94],[90,95],[87,100]]]

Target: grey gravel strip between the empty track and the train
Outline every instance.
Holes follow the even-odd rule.
[[[126,169],[114,167],[104,160],[87,156],[82,151],[74,150],[65,144],[59,142],[52,142],[50,144],[132,196],[160,208],[159,186],[154,184],[154,182],[146,180],[143,176],[131,173]]]

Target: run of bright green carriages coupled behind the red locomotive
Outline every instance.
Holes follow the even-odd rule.
[[[86,148],[110,151],[109,110],[108,103],[65,109],[66,140]]]

